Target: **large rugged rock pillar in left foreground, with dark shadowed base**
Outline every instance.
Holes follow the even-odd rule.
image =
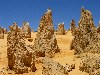
[[[10,26],[7,36],[8,67],[16,74],[28,72],[28,67],[35,71],[35,56],[31,47],[26,46],[17,24]]]

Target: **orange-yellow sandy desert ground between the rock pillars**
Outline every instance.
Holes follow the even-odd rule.
[[[27,45],[33,45],[36,38],[36,32],[31,33],[32,42],[27,39],[25,43]],[[80,58],[74,55],[74,50],[70,50],[70,43],[73,39],[71,31],[67,31],[66,35],[56,35],[57,44],[61,51],[55,54],[52,59],[59,62],[62,65],[66,63],[75,63],[75,69],[69,72],[69,75],[88,75],[88,73],[81,72],[79,70]],[[37,70],[35,72],[24,73],[23,75],[42,75],[42,64],[36,63]],[[4,39],[0,39],[0,75],[15,75],[12,71],[7,71],[7,34],[4,35]],[[17,74],[16,74],[17,75]]]

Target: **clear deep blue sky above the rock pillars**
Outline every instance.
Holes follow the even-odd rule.
[[[50,8],[54,28],[64,22],[67,30],[72,19],[78,25],[82,6],[92,12],[94,24],[98,26],[100,0],[0,0],[0,27],[9,28],[13,22],[22,26],[22,22],[27,21],[36,31],[40,18]]]

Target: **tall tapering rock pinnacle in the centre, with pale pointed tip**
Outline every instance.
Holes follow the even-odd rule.
[[[59,49],[54,35],[52,11],[50,9],[42,16],[36,36],[34,41],[36,56],[54,57]]]

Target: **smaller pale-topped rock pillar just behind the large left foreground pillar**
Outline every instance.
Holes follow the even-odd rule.
[[[25,38],[31,38],[31,28],[28,22],[23,22],[22,32],[25,35]]]

